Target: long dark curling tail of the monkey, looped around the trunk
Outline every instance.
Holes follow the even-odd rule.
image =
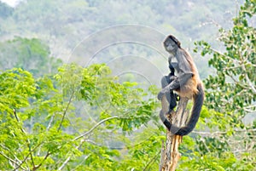
[[[166,113],[164,113],[163,111],[160,111],[161,121],[166,125],[166,128],[168,128],[168,130],[172,132],[172,134],[178,134],[183,136],[183,135],[189,134],[195,128],[195,124],[198,122],[198,119],[200,117],[201,107],[204,101],[204,90],[202,88],[202,85],[198,84],[197,89],[198,89],[198,93],[195,94],[193,97],[194,104],[193,104],[193,109],[191,111],[191,117],[189,118],[189,122],[186,124],[186,126],[182,128],[178,128],[175,125],[172,125],[172,123],[170,123],[166,119],[165,117]]]

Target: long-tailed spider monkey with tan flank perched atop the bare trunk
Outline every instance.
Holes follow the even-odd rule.
[[[158,94],[158,99],[161,100],[163,95],[174,90],[180,98],[193,99],[194,103],[189,122],[182,128],[177,128],[170,123],[165,117],[166,113],[162,110],[160,111],[160,119],[172,134],[183,136],[189,134],[195,128],[204,101],[204,90],[195,62],[189,53],[181,48],[181,43],[177,38],[172,35],[166,37],[164,47],[169,54],[172,54],[169,63],[177,71],[177,76],[168,85],[162,85],[164,88]]]

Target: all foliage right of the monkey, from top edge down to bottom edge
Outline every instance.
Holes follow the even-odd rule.
[[[249,24],[255,14],[255,1],[246,0],[233,28],[219,30],[224,53],[205,41],[195,43],[195,52],[212,55],[209,66],[216,71],[204,80],[205,105],[212,115],[202,123],[211,132],[197,137],[194,155],[182,158],[181,170],[253,170],[255,129],[242,119],[256,111],[256,29]]]

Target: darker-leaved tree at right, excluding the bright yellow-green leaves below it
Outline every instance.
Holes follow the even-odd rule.
[[[241,119],[247,111],[255,111],[255,50],[256,30],[247,23],[248,17],[255,15],[253,1],[246,1],[239,15],[234,19],[234,27],[229,31],[220,29],[219,40],[224,43],[222,54],[209,43],[198,42],[201,55],[212,54],[209,65],[213,66],[216,76],[205,80],[207,88],[207,106],[225,114],[230,126],[243,128]],[[195,49],[197,51],[197,49]]]

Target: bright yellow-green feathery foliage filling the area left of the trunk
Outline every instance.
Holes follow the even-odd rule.
[[[152,135],[152,128],[142,143],[143,139],[120,141],[122,132],[132,134],[151,120],[157,104],[148,95],[156,88],[144,92],[137,83],[118,83],[105,65],[65,65],[55,76],[37,79],[13,69],[3,71],[0,80],[2,169],[122,170],[127,163],[119,162],[121,158],[144,158],[136,166],[141,169],[158,154],[160,132]],[[79,102],[94,116],[76,113]],[[109,133],[122,136],[108,140]],[[127,155],[121,157],[119,150],[104,145],[107,142],[121,144],[119,150]]]

